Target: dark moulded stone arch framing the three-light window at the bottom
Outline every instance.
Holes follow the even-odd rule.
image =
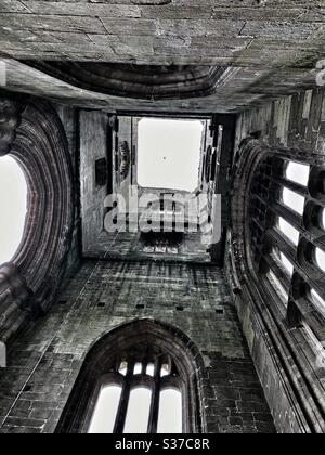
[[[203,384],[204,359],[195,343],[179,328],[150,318],[135,320],[113,328],[98,340],[83,359],[56,433],[87,432],[96,403],[100,378],[115,367],[121,352],[150,347],[170,356],[183,384],[184,432],[202,433],[205,428]]]

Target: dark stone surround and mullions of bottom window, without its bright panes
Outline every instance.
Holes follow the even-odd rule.
[[[61,416],[55,430],[56,433],[87,433],[96,405],[99,391],[107,377],[114,378],[114,384],[123,387],[123,375],[119,365],[126,355],[130,355],[131,369],[135,366],[135,359],[140,359],[143,366],[142,375],[135,377],[135,385],[152,388],[153,401],[151,414],[158,417],[158,405],[155,401],[155,384],[162,381],[166,387],[178,388],[182,392],[183,432],[200,433],[205,422],[205,408],[202,399],[202,384],[205,372],[204,361],[195,344],[181,330],[154,321],[136,320],[114,328],[101,338],[87,354],[82,368],[76,380],[72,394]],[[170,362],[171,376],[157,378],[153,373],[145,373],[157,362],[164,366],[166,359]],[[123,363],[123,362],[122,362]],[[145,364],[147,366],[145,366]],[[130,366],[130,365],[129,365]],[[136,368],[136,366],[135,366]],[[122,368],[123,369],[123,368]],[[153,376],[153,377],[150,377]],[[103,379],[104,378],[104,379]],[[134,379],[133,379],[134,380]],[[121,400],[120,406],[128,403]],[[172,412],[172,410],[171,410]],[[122,425],[115,424],[115,432],[122,432]],[[151,418],[148,432],[156,432],[155,418]]]

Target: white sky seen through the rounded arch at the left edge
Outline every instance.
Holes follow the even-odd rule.
[[[0,158],[0,264],[10,261],[24,233],[27,184],[20,165]]]

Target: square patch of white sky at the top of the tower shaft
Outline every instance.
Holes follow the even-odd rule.
[[[142,119],[138,183],[143,187],[194,191],[198,185],[203,130],[199,120]]]

